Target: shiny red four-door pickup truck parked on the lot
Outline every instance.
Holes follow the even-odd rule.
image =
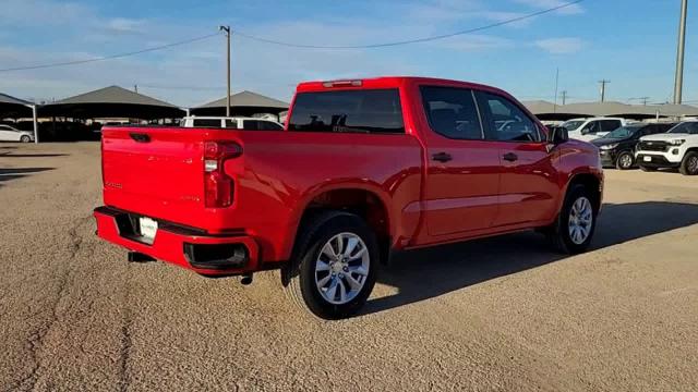
[[[105,127],[100,237],[204,275],[281,270],[322,318],[354,314],[396,250],[535,229],[587,249],[603,172],[507,93],[380,77],[298,86],[284,131]]]

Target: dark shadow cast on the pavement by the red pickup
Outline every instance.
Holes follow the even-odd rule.
[[[592,249],[696,223],[698,205],[671,201],[606,204],[599,217]],[[433,298],[566,257],[554,253],[543,235],[532,231],[408,252],[378,275],[378,283],[396,287],[397,294],[369,299],[362,314]]]

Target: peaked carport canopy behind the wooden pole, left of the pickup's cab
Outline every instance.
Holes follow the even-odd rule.
[[[227,99],[222,97],[192,108],[191,113],[196,115],[225,115],[226,105]],[[230,96],[231,115],[252,115],[255,113],[273,113],[278,115],[280,112],[288,110],[288,102],[248,90]]]

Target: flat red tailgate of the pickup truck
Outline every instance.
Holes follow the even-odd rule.
[[[205,210],[203,140],[206,133],[176,127],[104,128],[105,204],[197,226]]]

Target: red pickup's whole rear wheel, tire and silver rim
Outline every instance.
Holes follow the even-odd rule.
[[[289,297],[323,319],[354,315],[375,284],[375,234],[353,213],[326,211],[309,220],[292,259],[281,269]]]

